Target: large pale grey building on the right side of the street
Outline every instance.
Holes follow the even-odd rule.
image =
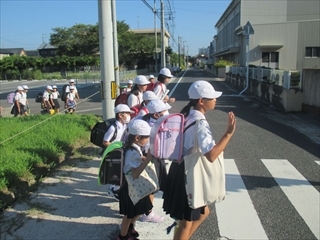
[[[284,70],[320,69],[319,0],[232,0],[215,27],[216,59]]]

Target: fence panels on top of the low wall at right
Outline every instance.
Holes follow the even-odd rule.
[[[238,75],[240,77],[246,77],[246,67],[226,67],[226,73],[232,75]],[[260,82],[273,83],[278,86],[282,86],[285,89],[290,88],[302,88],[302,71],[284,71],[265,68],[250,68],[249,78],[255,79]]]

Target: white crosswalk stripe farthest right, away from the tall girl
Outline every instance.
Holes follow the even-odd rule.
[[[312,233],[320,237],[319,192],[286,159],[261,159]]]

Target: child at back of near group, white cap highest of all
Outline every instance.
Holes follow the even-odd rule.
[[[172,74],[168,68],[162,68],[158,75],[158,82],[155,84],[154,93],[158,96],[159,99],[163,99],[164,102],[174,103],[175,98],[169,98],[166,95],[167,86],[166,84],[172,78]]]

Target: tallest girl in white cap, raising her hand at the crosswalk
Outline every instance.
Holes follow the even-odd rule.
[[[195,141],[195,131],[197,131],[197,141],[201,152],[209,162],[215,161],[226,148],[236,128],[236,119],[233,112],[228,113],[227,130],[218,142],[215,142],[212,138],[209,123],[205,118],[205,114],[215,108],[216,98],[220,97],[221,94],[222,92],[215,91],[207,81],[196,81],[190,86],[188,90],[190,102],[181,111],[186,117],[183,156],[191,153]],[[191,107],[193,110],[191,110]],[[200,120],[199,124],[194,124],[197,120]],[[189,125],[190,127],[188,127]],[[171,218],[179,220],[174,235],[175,240],[190,239],[210,213],[208,206],[197,209],[189,207],[184,171],[184,161],[180,164],[171,163],[163,196],[164,211],[170,214]]]

